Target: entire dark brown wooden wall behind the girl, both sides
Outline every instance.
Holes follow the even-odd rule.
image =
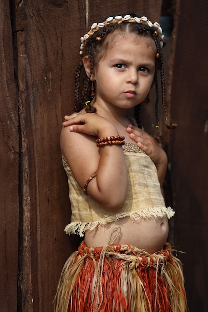
[[[70,205],[59,136],[74,105],[80,36],[103,16],[138,11],[158,21],[161,10],[175,25],[166,76],[178,128],[164,129],[170,239],[185,252],[190,312],[208,311],[208,2],[1,0],[0,312],[52,312],[76,245],[63,231]]]

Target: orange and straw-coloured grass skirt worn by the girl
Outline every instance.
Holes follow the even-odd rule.
[[[182,264],[164,250],[149,254],[131,245],[87,247],[84,241],[63,268],[55,312],[185,312]]]

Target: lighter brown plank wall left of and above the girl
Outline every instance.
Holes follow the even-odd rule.
[[[63,232],[70,205],[59,136],[86,23],[120,11],[158,20],[160,8],[155,0],[1,0],[1,312],[52,312],[74,249]]]

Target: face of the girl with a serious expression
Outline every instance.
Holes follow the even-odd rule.
[[[149,93],[154,73],[154,40],[135,34],[113,33],[110,46],[94,68],[96,103],[132,108]]]

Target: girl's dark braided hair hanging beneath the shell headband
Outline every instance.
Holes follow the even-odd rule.
[[[137,13],[131,13],[131,17],[141,17]],[[162,105],[166,114],[165,123],[167,128],[174,129],[176,127],[175,123],[168,122],[168,111],[165,106],[165,77],[164,77],[164,66],[163,66],[163,55],[162,48],[160,45],[160,40],[157,36],[154,27],[145,25],[144,23],[131,23],[131,22],[122,22],[122,23],[110,23],[105,25],[105,27],[96,31],[86,43],[84,53],[82,57],[88,56],[90,64],[90,74],[87,76],[83,63],[81,62],[77,68],[75,75],[75,111],[79,112],[81,109],[86,107],[86,112],[96,113],[96,108],[93,107],[90,103],[91,99],[91,80],[93,68],[98,65],[99,60],[101,60],[109,47],[109,40],[105,40],[109,33],[114,31],[120,32],[130,32],[136,33],[139,36],[150,37],[154,40],[156,46],[156,53],[159,57],[156,57],[156,70],[153,80],[153,85],[156,90],[156,100],[155,100],[155,120],[156,120],[156,134],[155,139],[158,142],[162,142],[162,135],[159,133],[159,117],[158,117],[158,102],[159,102],[159,86],[157,79],[157,71],[160,70],[160,80],[161,80],[161,93],[162,93]],[[99,40],[97,40],[99,38]],[[82,77],[82,81],[81,81]],[[143,101],[147,102],[149,100],[149,94],[147,98]],[[87,106],[86,106],[86,102]],[[135,119],[138,124],[138,127],[142,127],[141,122],[141,103],[135,107]]]

